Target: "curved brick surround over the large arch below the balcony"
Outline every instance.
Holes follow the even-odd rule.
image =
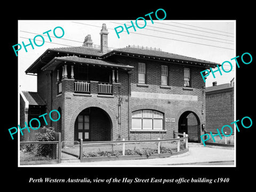
[[[118,123],[117,123],[117,118],[114,114],[113,111],[111,111],[107,106],[105,106],[103,103],[100,102],[90,102],[90,103],[84,103],[83,105],[81,105],[80,107],[78,107],[75,112],[73,113],[72,117],[71,117],[71,121],[70,121],[70,125],[69,127],[74,127],[75,126],[75,121],[77,116],[86,108],[89,107],[98,107],[102,110],[104,110],[109,118],[110,118],[110,127],[111,130],[116,129]],[[72,128],[73,129],[73,128]],[[112,137],[111,137],[112,138]]]

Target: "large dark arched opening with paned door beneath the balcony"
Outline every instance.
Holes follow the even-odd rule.
[[[110,141],[112,122],[105,110],[88,107],[76,117],[74,129],[75,141]]]

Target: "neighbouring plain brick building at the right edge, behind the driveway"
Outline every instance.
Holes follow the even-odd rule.
[[[217,129],[221,131],[222,126],[230,125],[234,122],[234,78],[230,83],[205,88],[206,100],[206,131],[217,133]],[[234,125],[230,125],[233,127]],[[227,128],[223,132],[230,133]],[[234,133],[233,133],[234,134]]]

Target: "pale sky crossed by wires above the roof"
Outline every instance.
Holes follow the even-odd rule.
[[[132,21],[135,25],[134,18]],[[102,23],[105,23],[109,31],[108,46],[111,49],[118,49],[128,45],[143,47],[156,47],[164,52],[180,54],[206,61],[222,64],[230,61],[233,70],[229,73],[215,73],[206,79],[206,87],[212,86],[212,82],[217,81],[218,85],[230,83],[235,77],[236,63],[231,58],[236,57],[236,23],[234,20],[146,20],[145,28],[138,28],[136,31],[129,28],[127,34],[124,23],[129,27],[131,20],[19,20],[18,21],[18,42],[27,45],[29,39],[33,42],[36,35],[44,37],[44,44],[40,37],[36,38],[36,43],[42,46],[29,45],[27,52],[24,47],[18,51],[18,86],[20,91],[37,91],[37,77],[26,75],[25,70],[33,64],[48,48],[82,46],[84,38],[91,35],[93,45],[100,45],[100,30]],[[124,31],[117,37],[114,28],[123,26]],[[138,20],[138,26],[145,26],[143,20]],[[61,38],[54,37],[53,30],[61,27],[64,35]],[[117,28],[119,31],[121,28]],[[52,42],[44,32],[49,31]],[[60,28],[55,30],[57,36],[62,35]],[[17,47],[16,47],[17,49]],[[13,51],[14,57],[15,53]],[[226,71],[230,66],[225,63],[223,67]],[[203,81],[203,78],[202,78]]]

